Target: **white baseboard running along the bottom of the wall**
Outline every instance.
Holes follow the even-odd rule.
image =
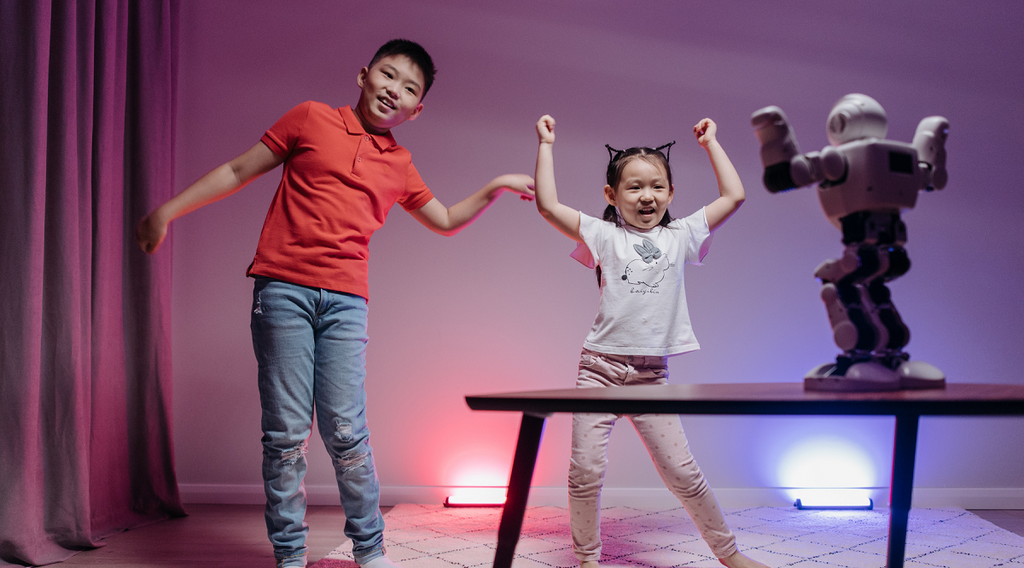
[[[399,503],[440,505],[453,489],[455,488],[444,486],[382,486],[381,505],[384,507]],[[185,504],[263,505],[265,503],[262,485],[182,483],[178,486],[178,491],[182,503]],[[790,496],[790,491],[778,487],[725,487],[715,488],[715,495],[718,496],[722,507],[727,509],[791,507],[793,498]],[[870,496],[877,506],[887,507],[889,488],[873,488],[870,490]],[[338,488],[334,485],[307,485],[306,499],[309,505],[338,505]],[[601,505],[604,507],[659,507],[674,501],[675,497],[664,487],[605,487],[601,493]],[[529,505],[565,506],[565,487],[532,487],[529,491]],[[1024,510],[1024,487],[915,487],[913,507]]]

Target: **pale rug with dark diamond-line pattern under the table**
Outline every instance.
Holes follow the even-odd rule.
[[[486,568],[494,562],[499,509],[399,505],[385,515],[388,557],[402,568]],[[889,510],[727,510],[741,551],[772,567],[873,568],[886,564]],[[607,568],[721,568],[686,511],[612,507],[601,512]],[[568,511],[526,510],[513,568],[574,568]],[[342,544],[315,568],[356,568]],[[1024,537],[962,509],[913,509],[906,568],[1024,568]]]

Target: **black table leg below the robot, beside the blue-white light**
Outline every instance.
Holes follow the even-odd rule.
[[[918,414],[896,414],[893,479],[889,493],[889,553],[886,566],[903,568],[906,524],[913,496],[913,460],[918,452]]]

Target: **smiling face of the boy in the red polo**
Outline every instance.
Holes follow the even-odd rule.
[[[359,102],[353,111],[367,132],[384,134],[423,111],[423,71],[404,55],[388,55],[362,68],[356,84]]]

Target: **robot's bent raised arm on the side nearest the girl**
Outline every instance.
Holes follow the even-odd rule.
[[[826,179],[835,181],[846,175],[846,160],[833,146],[819,152],[800,154],[793,127],[778,106],[757,111],[751,117],[751,125],[761,142],[764,184],[772,193]]]

